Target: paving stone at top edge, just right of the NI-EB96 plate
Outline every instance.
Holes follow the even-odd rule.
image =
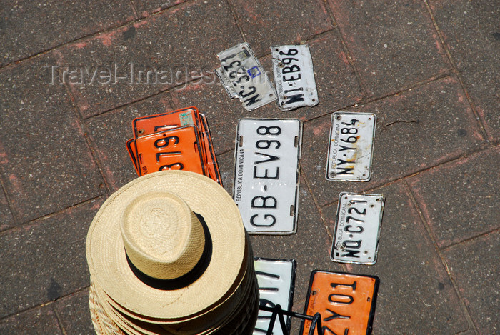
[[[451,69],[423,1],[329,0],[369,96]]]

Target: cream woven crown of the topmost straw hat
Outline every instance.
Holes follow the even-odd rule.
[[[191,271],[204,251],[204,230],[184,200],[169,192],[131,199],[121,219],[126,255],[154,279],[176,279]]]

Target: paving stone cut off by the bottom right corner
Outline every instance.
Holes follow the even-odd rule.
[[[499,231],[452,246],[443,253],[480,334],[499,334]]]

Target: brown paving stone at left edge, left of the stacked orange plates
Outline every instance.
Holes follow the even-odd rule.
[[[104,193],[63,86],[48,84],[51,57],[0,72],[0,166],[19,221]]]

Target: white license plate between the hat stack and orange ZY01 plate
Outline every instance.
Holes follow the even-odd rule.
[[[257,282],[259,283],[259,303],[267,307],[281,305],[281,309],[289,311],[294,299],[295,260],[261,259],[254,261]],[[286,326],[290,332],[291,317],[285,316]],[[259,311],[254,335],[267,333],[271,312]],[[272,334],[282,335],[283,331],[276,318]]]

